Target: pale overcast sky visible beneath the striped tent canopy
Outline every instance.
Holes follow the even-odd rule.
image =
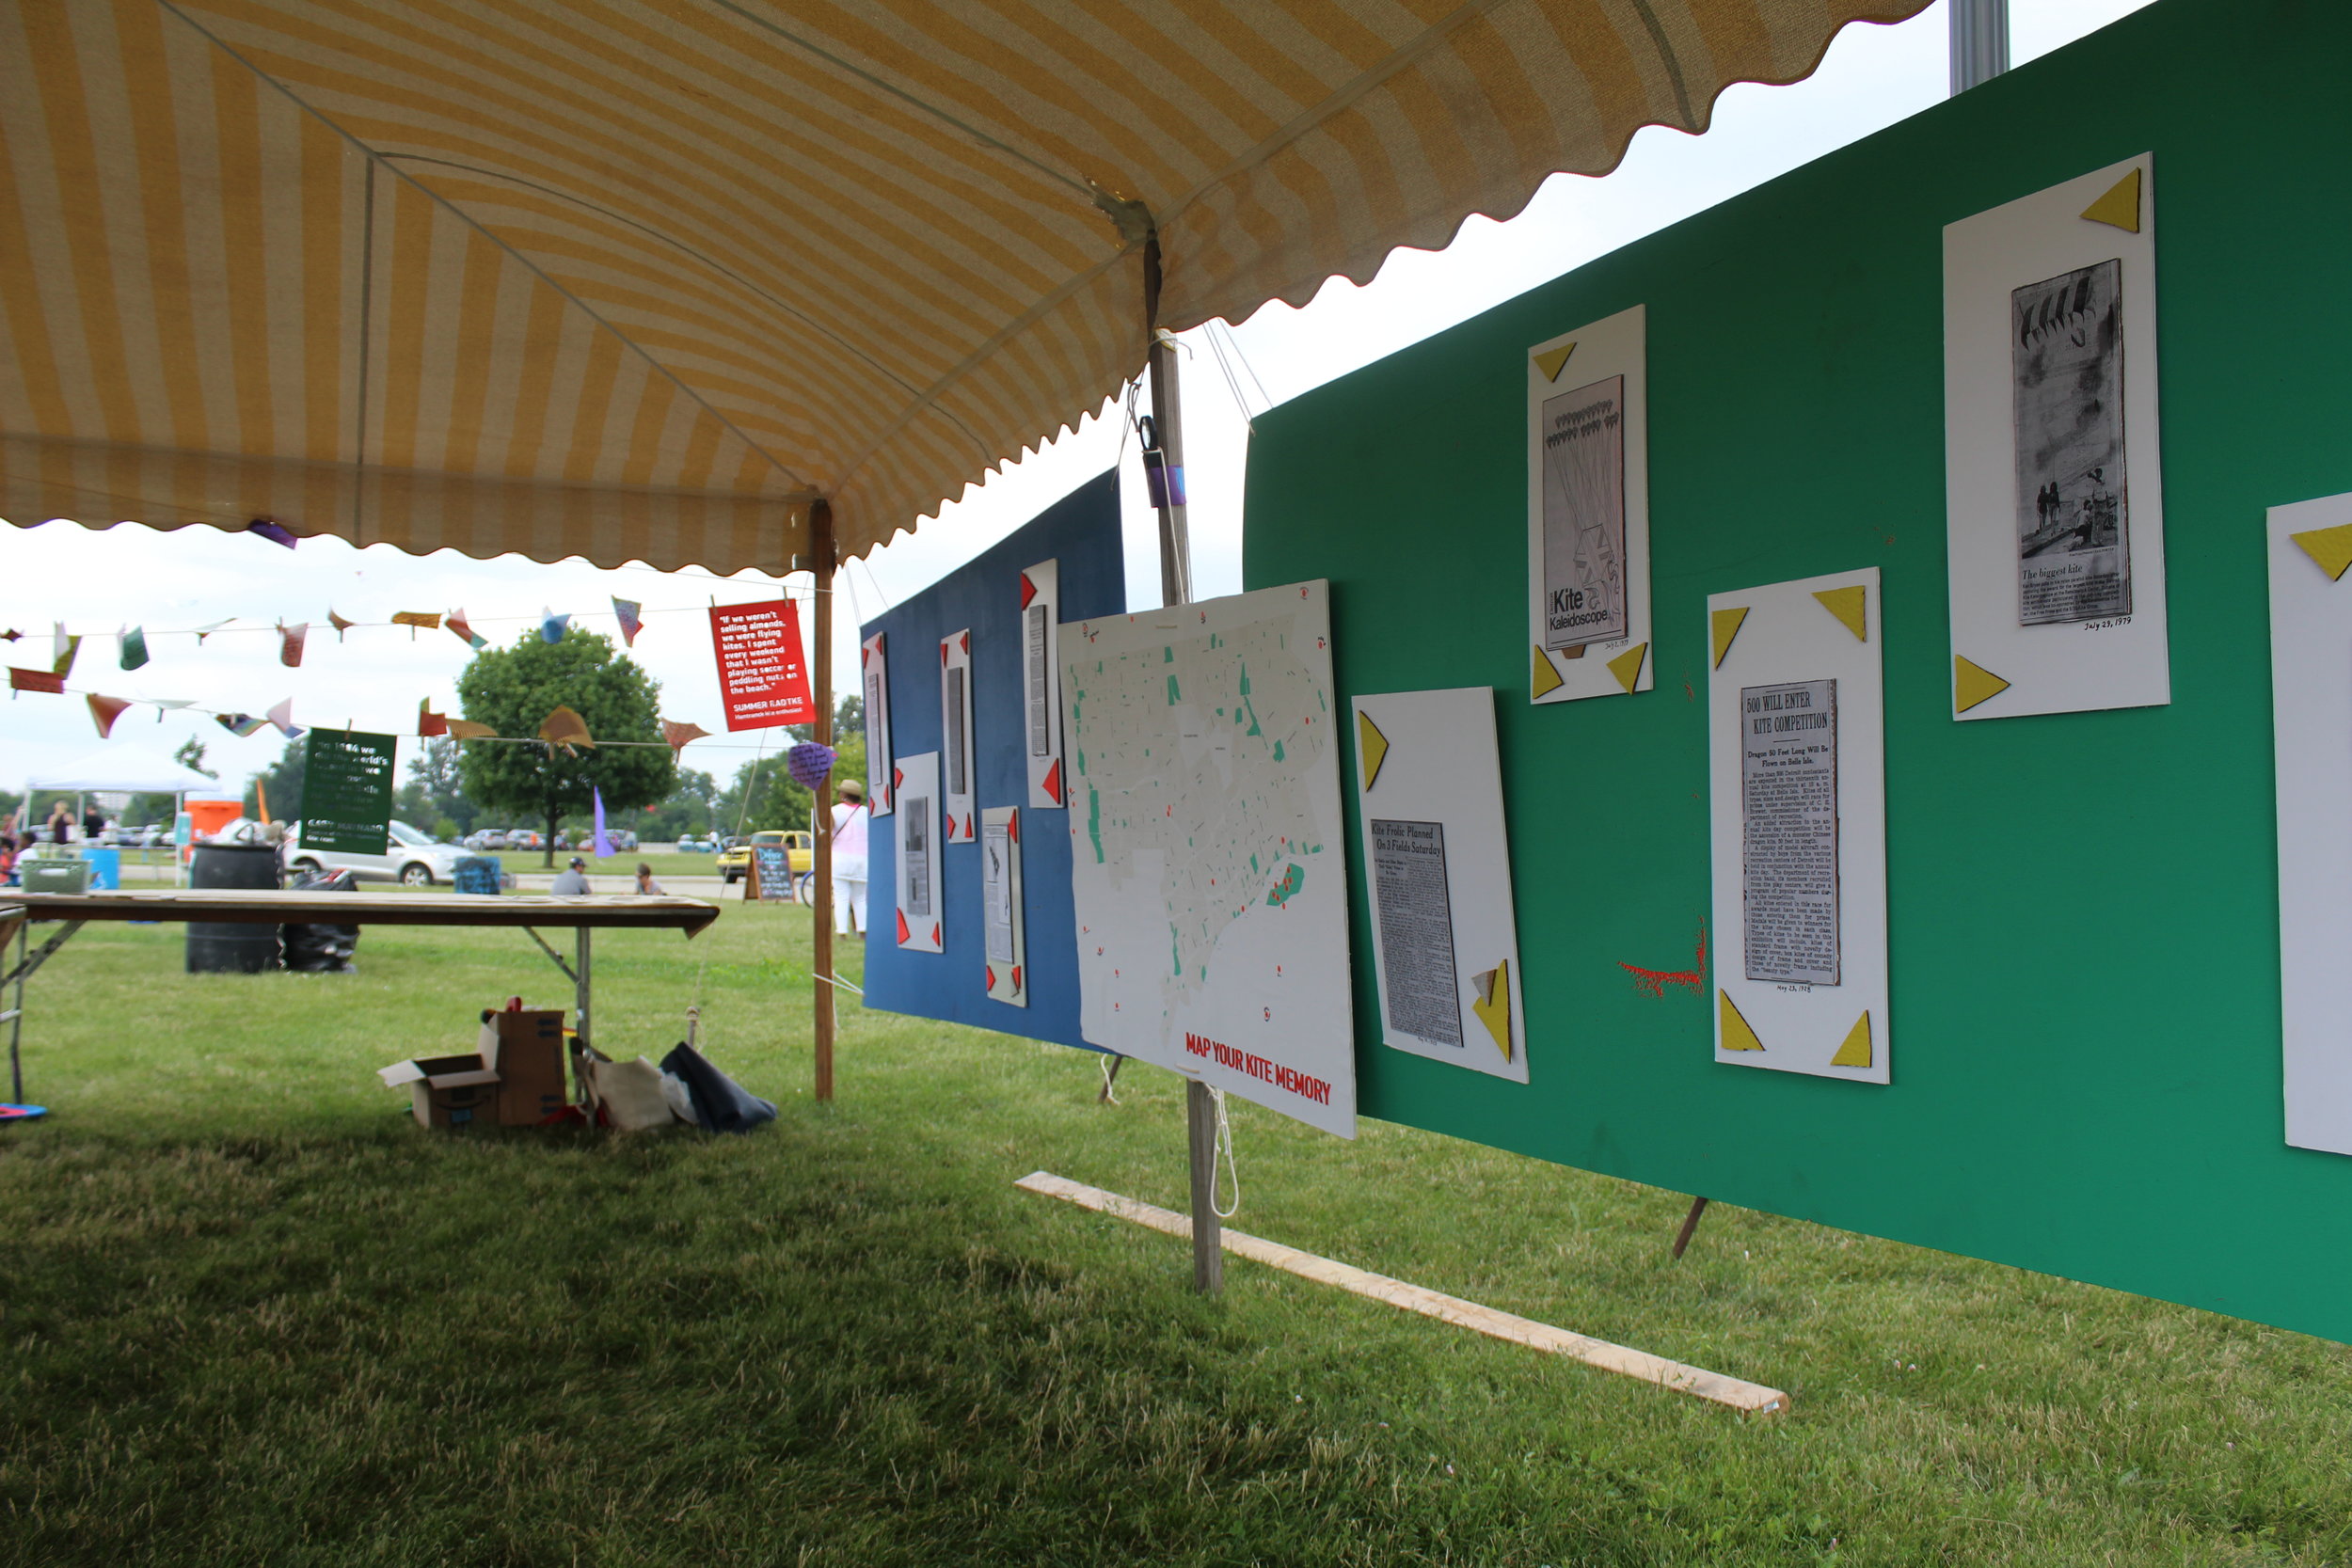
[[[2011,0],[2011,63],[2046,54],[2147,0]],[[1367,287],[1334,282],[1305,308],[1268,306],[1230,329],[1272,402],[1442,331],[1569,268],[1712,207],[1750,186],[1795,169],[1849,141],[1884,129],[1945,96],[1945,12],[1893,26],[1846,28],[1820,71],[1795,87],[1733,87],[1705,136],[1644,129],[1606,179],[1552,176],[1508,223],[1470,219],[1444,252],[1397,252]],[[1185,334],[1185,442],[1197,597],[1242,585],[1242,475],[1247,425],[1202,331]],[[1265,407],[1258,386],[1235,367],[1251,411]],[[1120,458],[1122,421],[1087,418],[1077,430],[1028,456],[957,503],[941,508],[913,536],[851,564],[844,576],[837,658],[851,668],[856,621],[988,548],[1080,482]],[[1127,447],[1129,602],[1157,604],[1160,555],[1143,505],[1134,447]],[[475,562],[454,552],[409,557],[388,545],[353,550],[334,538],[306,538],[282,550],[261,538],[207,527],[172,534],[118,524],[82,529],[47,522],[0,536],[0,630],[21,630],[7,663],[47,668],[49,630],[64,618],[87,632],[71,684],[127,698],[188,698],[198,708],[158,722],[134,708],[115,724],[115,743],[169,752],[183,738],[205,741],[212,766],[242,780],[282,750],[278,731],[238,741],[214,712],[263,712],[294,698],[301,724],[412,731],[416,703],[456,712],[466,646],[449,632],[353,630],[339,646],[327,611],[350,621],[386,621],[393,611],[463,607],[480,635],[510,642],[541,609],[569,611],[590,630],[612,632],[612,595],[644,604],[635,658],[661,682],[666,717],[720,729],[717,679],[706,609],[771,595],[760,578],[720,581],[644,567],[600,571],[583,562],[541,567],[522,557]],[[807,578],[793,585],[807,607]],[[235,625],[198,646],[186,628],[235,616]],[[278,663],[278,621],[310,621],[303,665]],[[115,663],[118,625],[143,625],[153,661],[139,672]],[[101,743],[80,698],[24,693],[0,705],[0,785],[61,766]],[[402,764],[409,757],[402,748]],[[748,762],[760,736],[717,736],[687,748],[687,764],[722,778]]]

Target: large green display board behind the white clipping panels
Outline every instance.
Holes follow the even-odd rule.
[[[1531,1081],[1378,1041],[1350,867],[1364,1114],[2352,1340],[2352,1159],[2281,1140],[2263,534],[2352,491],[2345,61],[2352,7],[2164,0],[1256,421],[1244,576],[1331,578],[1341,689],[1498,689]],[[2173,701],[1957,724],[1943,226],[2145,150]],[[1529,708],[1526,350],[1637,303],[1656,689]],[[1623,969],[1710,905],[1705,597],[1858,567],[1884,1088],[1717,1065],[1712,987]]]

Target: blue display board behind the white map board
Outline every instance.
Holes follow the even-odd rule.
[[[1061,562],[1061,618],[1127,611],[1127,552],[1120,548],[1120,475],[1073,489],[1033,522],[967,567],[875,616],[863,637],[889,637],[891,750],[917,757],[943,748],[938,639],[971,632],[974,806],[1023,806],[1021,898],[1028,1006],[988,997],[981,933],[981,846],[938,844],[943,952],[910,952],[891,938],[898,877],[896,820],[873,823],[866,940],[866,1006],[969,1023],[1063,1046],[1077,1034],[1077,922],[1070,914],[1070,813],[1028,806],[1028,752],[1021,741],[1021,569]]]

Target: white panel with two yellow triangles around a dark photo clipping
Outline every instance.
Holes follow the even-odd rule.
[[[1943,230],[1952,717],[2173,701],[2150,155]]]

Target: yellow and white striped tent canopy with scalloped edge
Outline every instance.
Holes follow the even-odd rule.
[[[783,571],[1924,0],[0,0],[0,515]]]

